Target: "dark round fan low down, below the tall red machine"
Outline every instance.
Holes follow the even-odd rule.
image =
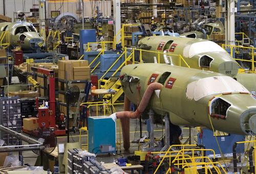
[[[51,154],[57,145],[57,137],[53,129],[46,127],[39,128],[36,138],[38,138],[38,141],[45,146],[42,151],[33,150],[33,152],[37,155],[42,155],[42,153]]]

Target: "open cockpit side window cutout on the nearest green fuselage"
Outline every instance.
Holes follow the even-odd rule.
[[[226,118],[228,107],[230,107],[231,104],[226,102],[225,100],[221,98],[216,98],[211,101],[210,104],[210,115],[211,117],[216,118]]]

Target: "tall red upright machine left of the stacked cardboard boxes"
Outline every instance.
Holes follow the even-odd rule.
[[[35,68],[37,69],[37,73],[44,74],[48,76],[49,79],[49,108],[39,108],[38,107],[38,99],[36,99],[36,107],[38,108],[38,126],[39,127],[46,127],[54,129],[55,135],[66,135],[66,129],[59,129],[58,125],[56,125],[56,102],[55,102],[55,78],[54,78],[54,71],[48,70],[44,68]],[[60,117],[60,116],[59,116]],[[28,134],[31,131],[23,129],[24,132]]]

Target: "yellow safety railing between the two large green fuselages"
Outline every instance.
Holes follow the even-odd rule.
[[[181,66],[181,62],[183,62],[185,64],[185,66],[187,68],[190,68],[190,66],[187,64],[187,62],[185,61],[185,59],[182,57],[182,55],[180,54],[169,54],[169,53],[163,53],[163,52],[156,52],[156,51],[148,51],[148,50],[141,50],[141,49],[133,49],[136,51],[139,51],[139,58],[140,58],[140,62],[142,62],[142,54],[143,52],[147,52],[147,53],[155,53],[157,54],[157,62],[160,63],[160,55],[167,55],[167,56],[175,56],[178,58],[178,64],[177,66]]]

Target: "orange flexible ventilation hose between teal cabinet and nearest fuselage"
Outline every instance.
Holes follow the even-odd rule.
[[[122,133],[123,133],[123,147],[125,150],[130,148],[130,120],[139,118],[140,115],[145,110],[146,106],[150,102],[150,98],[155,90],[161,90],[163,85],[161,83],[151,83],[147,86],[147,89],[142,97],[142,100],[135,112],[130,111],[130,100],[125,96],[124,98],[124,111],[117,112],[111,115],[111,117],[116,120],[120,119],[122,125]]]

